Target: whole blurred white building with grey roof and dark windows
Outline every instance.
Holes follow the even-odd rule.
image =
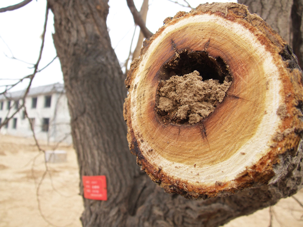
[[[22,105],[24,92],[23,90],[0,95],[0,124]],[[37,139],[72,143],[70,115],[63,84],[30,88],[25,98],[25,108],[21,108],[8,124],[0,129],[0,133],[30,137],[33,135],[31,127]]]

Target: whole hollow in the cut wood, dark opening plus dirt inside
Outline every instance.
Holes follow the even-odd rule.
[[[224,61],[206,52],[177,53],[164,68],[163,78],[172,76],[159,84],[156,109],[166,123],[192,125],[205,119],[223,101],[232,83]]]

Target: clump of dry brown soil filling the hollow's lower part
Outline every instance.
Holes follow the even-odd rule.
[[[161,82],[159,113],[167,115],[170,122],[195,124],[212,113],[222,102],[231,81],[209,79],[203,81],[199,72],[172,76]],[[162,114],[161,114],[162,113]]]

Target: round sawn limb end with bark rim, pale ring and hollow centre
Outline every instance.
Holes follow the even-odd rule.
[[[186,198],[286,176],[303,152],[303,79],[291,48],[235,3],[200,5],[164,23],[125,82],[137,164]]]

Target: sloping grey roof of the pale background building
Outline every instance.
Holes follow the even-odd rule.
[[[56,83],[49,84],[40,87],[31,87],[27,96],[37,96],[41,94],[53,94],[53,93],[63,93],[64,92],[64,84]],[[24,95],[25,90],[8,92],[6,95],[0,95],[0,100],[5,100],[7,98],[11,99],[19,99]]]

